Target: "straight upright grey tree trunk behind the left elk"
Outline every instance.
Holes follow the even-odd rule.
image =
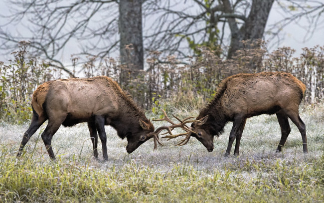
[[[142,0],[119,1],[121,82],[126,83],[144,69]]]

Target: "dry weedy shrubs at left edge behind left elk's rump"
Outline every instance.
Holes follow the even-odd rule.
[[[30,100],[33,90],[45,81],[60,77],[60,71],[48,68],[48,65],[36,58],[26,60],[29,42],[20,41],[18,51],[11,54],[14,60],[6,65],[0,62],[0,119],[18,121],[31,118]]]

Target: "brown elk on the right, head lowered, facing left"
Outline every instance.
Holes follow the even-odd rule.
[[[195,137],[208,150],[214,149],[213,138],[223,132],[227,122],[233,127],[229,135],[225,156],[229,155],[236,139],[234,154],[239,154],[240,140],[246,119],[261,114],[276,114],[281,128],[281,140],[277,152],[281,152],[291,131],[288,118],[302,134],[304,153],[307,153],[306,126],[299,116],[299,104],[306,86],[290,73],[262,72],[256,74],[237,74],[224,79],[215,98],[201,109],[191,124],[190,131],[180,134],[186,136],[178,145],[186,144]],[[191,132],[193,131],[193,132]],[[175,138],[168,135],[164,138]]]

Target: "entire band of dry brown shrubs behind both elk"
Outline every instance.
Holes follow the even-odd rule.
[[[304,48],[299,57],[295,50],[281,47],[268,52],[262,40],[243,41],[244,47],[232,59],[226,60],[221,50],[197,47],[197,55],[187,61],[176,56],[163,57],[153,51],[147,57],[147,68],[132,78],[127,64],[120,64],[112,57],[100,59],[89,56],[82,65],[85,77],[106,75],[117,81],[123,89],[146,109],[157,116],[160,108],[174,111],[194,111],[213,98],[218,83],[225,77],[237,73],[261,71],[286,71],[302,80],[307,90],[305,101],[317,103],[324,99],[324,46]],[[0,63],[0,119],[29,119],[32,91],[41,83],[61,78],[57,69],[51,69],[44,61],[26,60],[28,42],[18,44],[9,65]],[[75,73],[78,58],[71,58]],[[129,74],[127,74],[129,73]],[[126,75],[125,75],[126,74]],[[125,77],[128,80],[124,80]],[[27,113],[26,113],[27,112]]]

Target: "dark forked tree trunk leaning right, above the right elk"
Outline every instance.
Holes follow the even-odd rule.
[[[253,0],[251,11],[242,27],[238,30],[234,18],[228,18],[231,29],[231,45],[227,58],[232,58],[235,52],[243,48],[242,40],[261,39],[267,24],[269,13],[274,0]],[[223,0],[226,12],[232,12],[232,7],[228,0]]]

